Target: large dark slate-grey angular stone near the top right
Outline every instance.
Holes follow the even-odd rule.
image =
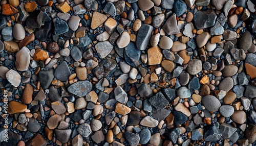
[[[215,25],[217,16],[215,11],[207,9],[206,11],[197,11],[194,15],[194,21],[197,29],[205,29]]]

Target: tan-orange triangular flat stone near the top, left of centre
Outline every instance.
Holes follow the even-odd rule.
[[[84,1],[85,3],[86,1]],[[97,3],[97,2],[96,2]],[[92,23],[91,23],[91,28],[94,30],[100,25],[104,23],[104,21],[108,18],[106,15],[98,13],[98,12],[93,12],[93,18],[92,18]]]

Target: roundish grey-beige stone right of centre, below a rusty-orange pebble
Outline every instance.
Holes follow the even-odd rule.
[[[187,63],[187,72],[190,75],[198,74],[202,69],[202,61],[199,59],[193,59]]]

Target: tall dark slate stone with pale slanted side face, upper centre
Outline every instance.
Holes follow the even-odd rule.
[[[136,37],[136,46],[139,50],[145,50],[147,44],[150,42],[151,33],[153,31],[153,27],[147,24],[143,24]]]

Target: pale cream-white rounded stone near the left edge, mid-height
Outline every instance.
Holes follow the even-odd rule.
[[[10,69],[9,71],[6,72],[5,76],[8,82],[11,83],[11,85],[13,85],[14,87],[19,86],[21,77],[17,71]]]

